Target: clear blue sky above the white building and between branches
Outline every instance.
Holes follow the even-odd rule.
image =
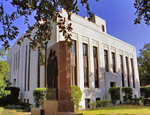
[[[89,0],[91,11],[95,15],[106,20],[106,29],[109,35],[112,35],[124,42],[127,42],[136,47],[137,55],[139,49],[144,44],[150,43],[150,26],[147,26],[144,21],[141,24],[134,25],[135,11],[134,0]],[[8,2],[4,4],[6,12],[13,10]],[[86,16],[86,10],[79,4],[79,15]],[[34,24],[34,18],[29,18],[30,24]],[[15,25],[19,27],[20,34],[17,38],[10,42],[12,46],[16,40],[27,30],[27,26],[23,22],[23,18],[15,21]],[[2,25],[0,25],[1,33]],[[1,45],[1,43],[0,43]]]

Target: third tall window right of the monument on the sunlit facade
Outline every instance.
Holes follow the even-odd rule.
[[[97,47],[93,47],[95,88],[99,88]]]

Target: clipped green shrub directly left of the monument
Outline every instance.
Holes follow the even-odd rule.
[[[46,88],[35,88],[33,97],[36,107],[42,106],[43,101],[46,100]]]

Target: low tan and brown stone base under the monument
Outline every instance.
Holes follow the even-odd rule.
[[[32,115],[83,115],[74,113],[73,101],[44,101],[43,109],[32,108]]]

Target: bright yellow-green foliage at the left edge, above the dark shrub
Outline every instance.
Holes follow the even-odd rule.
[[[0,60],[0,98],[9,94],[8,91],[5,91],[6,82],[9,78],[8,72],[10,71],[9,65],[5,62]]]

